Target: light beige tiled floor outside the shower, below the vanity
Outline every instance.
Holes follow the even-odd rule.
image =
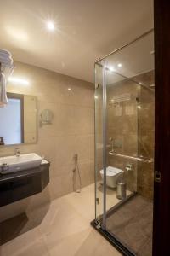
[[[111,196],[111,204],[113,198],[116,200],[116,196]],[[121,255],[90,226],[94,219],[94,185],[28,212],[28,218],[19,232],[22,234],[0,248],[1,256]]]

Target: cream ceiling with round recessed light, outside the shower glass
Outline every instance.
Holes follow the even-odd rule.
[[[15,61],[90,82],[94,61],[153,27],[152,0],[0,0],[0,6],[0,48]]]

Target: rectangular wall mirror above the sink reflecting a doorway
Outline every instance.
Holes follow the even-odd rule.
[[[37,97],[7,93],[0,108],[0,145],[37,143]]]

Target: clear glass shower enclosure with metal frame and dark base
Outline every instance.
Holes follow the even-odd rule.
[[[95,229],[152,255],[154,32],[95,62]]]

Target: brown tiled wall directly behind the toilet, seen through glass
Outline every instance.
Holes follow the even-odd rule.
[[[139,86],[130,80],[122,80],[107,88],[107,151],[108,166],[115,166],[125,172],[127,189],[137,190],[137,162],[110,155],[111,141],[118,154],[138,154],[137,101]],[[132,164],[133,171],[126,172],[126,165]]]

